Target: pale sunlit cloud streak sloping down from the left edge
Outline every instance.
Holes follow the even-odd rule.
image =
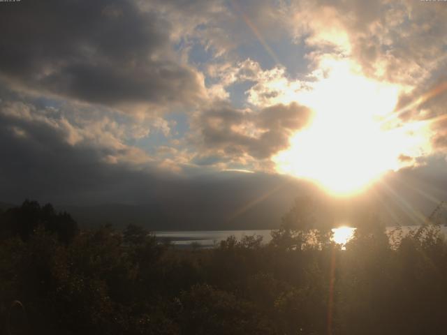
[[[88,149],[96,152],[98,161],[122,158],[126,164],[138,165],[150,161],[142,151],[135,154],[136,148],[125,143],[125,126],[116,121],[101,117],[83,120],[76,124],[64,115],[66,108],[39,109],[32,103],[22,101],[1,101],[0,117],[5,134],[13,135],[11,142],[22,141],[30,147],[45,151],[57,150],[61,147]],[[73,113],[73,111],[71,111]],[[13,131],[11,133],[11,130]],[[72,150],[68,150],[72,151]],[[91,157],[89,157],[91,158]]]

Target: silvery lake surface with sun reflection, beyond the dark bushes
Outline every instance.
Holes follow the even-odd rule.
[[[408,233],[410,230],[418,229],[418,226],[402,226],[402,232],[404,234]],[[337,235],[337,230],[342,228],[335,228],[332,231],[335,236]],[[349,228],[351,230],[351,234],[355,231],[354,228]],[[386,232],[390,234],[395,230],[395,227],[387,227]],[[345,234],[345,239],[343,237],[339,238],[339,240],[335,239],[337,243],[343,244],[344,241],[349,240],[351,237],[348,233],[342,232],[342,235]],[[176,246],[190,246],[192,243],[200,244],[203,248],[211,248],[212,246],[217,246],[219,243],[230,236],[235,236],[239,241],[244,236],[258,236],[261,235],[263,237],[263,244],[268,244],[272,240],[271,235],[272,230],[177,230],[177,231],[159,231],[154,232],[155,236],[161,240],[167,239],[172,244]],[[447,237],[447,227],[442,225],[441,232],[444,233]]]

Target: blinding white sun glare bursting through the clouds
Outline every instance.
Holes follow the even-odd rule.
[[[326,68],[325,76],[297,94],[314,111],[311,123],[273,161],[280,173],[310,179],[334,195],[352,195],[402,168],[408,161],[401,158],[413,156],[427,137],[420,129],[383,123],[402,87],[364,77],[348,61]]]

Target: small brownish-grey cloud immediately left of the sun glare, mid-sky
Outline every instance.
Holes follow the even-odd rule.
[[[195,122],[205,149],[220,149],[228,156],[248,154],[269,158],[286,149],[293,131],[307,124],[307,107],[291,103],[274,105],[259,112],[236,110],[230,105],[217,105],[200,114]]]

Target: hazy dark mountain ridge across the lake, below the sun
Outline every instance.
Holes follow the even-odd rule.
[[[336,199],[297,179],[223,174],[217,181],[157,186],[145,196],[135,195],[136,198],[129,195],[122,198],[73,195],[71,200],[31,195],[24,198],[51,202],[58,211],[70,213],[80,227],[105,223],[124,227],[133,223],[149,230],[275,229],[301,195],[316,199],[319,221],[332,221],[335,225],[355,225],[367,212],[379,214],[386,225],[415,224],[414,217],[409,217],[413,211],[420,212],[419,217],[428,216],[437,205],[415,191],[420,188],[410,182],[388,178],[383,184],[387,188],[378,186],[365,195]],[[20,205],[24,198],[1,198],[0,210],[10,207],[9,202]]]

